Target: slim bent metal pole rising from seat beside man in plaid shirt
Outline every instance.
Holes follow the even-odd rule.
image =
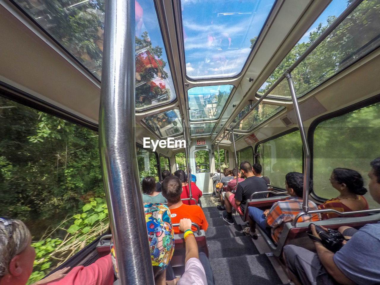
[[[304,162],[304,196],[303,196],[303,205],[302,209],[305,213],[309,211],[309,179],[310,179],[310,150],[309,145],[307,144],[306,133],[304,124],[302,122],[301,112],[299,111],[298,100],[296,96],[296,90],[294,89],[293,80],[291,79],[291,74],[289,72],[284,73],[288,80],[291,99],[293,100],[294,112],[296,113],[297,123],[299,133],[301,135],[302,146],[305,153],[305,162]]]

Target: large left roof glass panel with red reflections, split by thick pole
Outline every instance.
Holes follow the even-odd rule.
[[[101,79],[105,0],[15,0],[90,73]],[[135,1],[136,109],[176,98],[152,0]]]

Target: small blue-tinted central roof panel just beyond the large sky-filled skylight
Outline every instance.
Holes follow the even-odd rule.
[[[233,85],[193,87],[187,91],[190,120],[218,119]]]

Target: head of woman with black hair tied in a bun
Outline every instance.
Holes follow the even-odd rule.
[[[364,195],[367,189],[363,187],[363,177],[358,171],[348,168],[335,168],[330,176],[332,187],[338,191],[345,188],[356,195]]]

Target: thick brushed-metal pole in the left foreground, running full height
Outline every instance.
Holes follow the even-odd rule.
[[[135,141],[135,2],[107,0],[99,147],[120,283],[154,284]]]

